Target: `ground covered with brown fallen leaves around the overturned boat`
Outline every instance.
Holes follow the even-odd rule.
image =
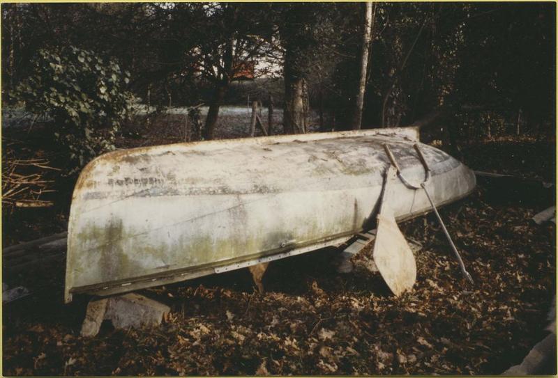
[[[180,122],[128,129],[119,143],[176,142]],[[23,132],[5,131],[4,145],[56,162],[40,129]],[[482,141],[463,155],[474,169],[555,182],[555,141]],[[59,182],[54,207],[3,214],[4,246],[66,228],[73,182]],[[541,191],[506,196],[479,183],[474,194],[440,210],[474,285],[460,276],[432,214],[402,223],[422,249],[415,288],[400,298],[359,263],[363,257],[352,274],[340,275],[338,251],[323,249],[271,264],[264,294],[247,270],[144,290],[172,306],[162,326],[121,331],[103,324],[96,338],[81,338],[88,298],[62,304],[63,261],[19,274],[4,270],[3,281],[33,294],[3,306],[3,374],[499,374],[548,334],[556,230],[531,217],[555,204],[555,189]]]

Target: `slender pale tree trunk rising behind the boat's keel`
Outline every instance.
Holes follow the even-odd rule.
[[[361,46],[361,64],[360,64],[360,78],[359,86],[356,89],[356,101],[354,104],[352,116],[352,129],[359,130],[362,127],[362,109],[364,104],[364,92],[366,88],[366,72],[368,69],[368,53],[370,50],[370,40],[372,38],[372,27],[374,23],[374,15],[372,9],[375,6],[369,1],[366,3],[363,33],[362,33],[362,46]]]

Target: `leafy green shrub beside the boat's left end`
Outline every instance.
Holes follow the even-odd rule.
[[[41,49],[33,71],[15,90],[28,111],[46,114],[68,152],[68,174],[114,150],[115,133],[132,109],[130,73],[113,59],[66,47]]]

